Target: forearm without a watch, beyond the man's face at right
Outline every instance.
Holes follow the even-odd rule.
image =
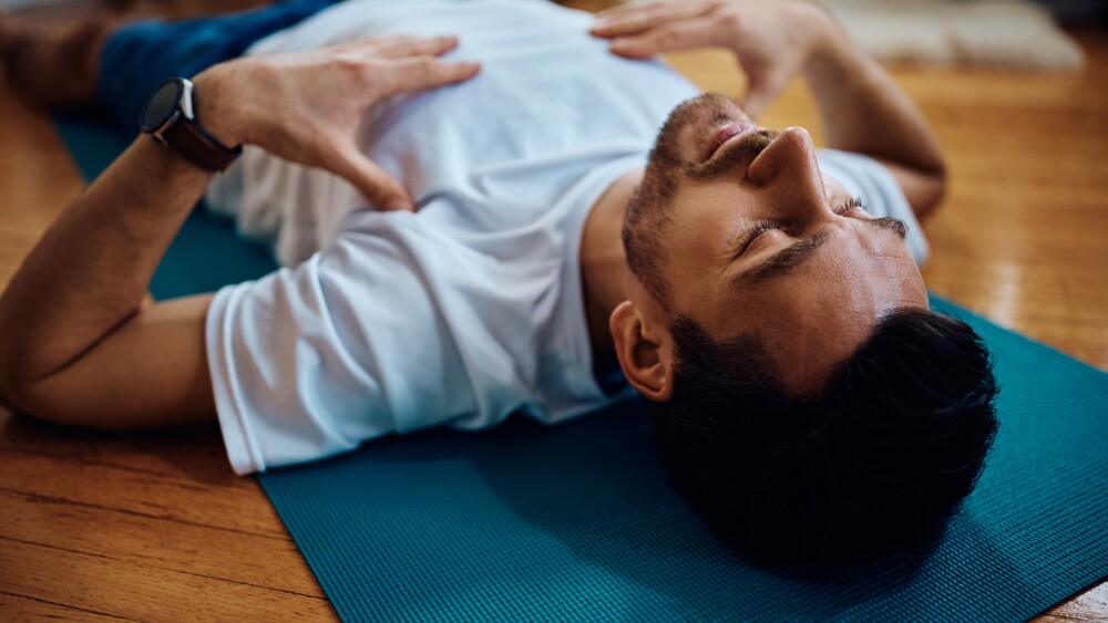
[[[828,146],[942,176],[938,142],[912,101],[830,15],[813,12],[817,43],[803,72],[820,108]]]

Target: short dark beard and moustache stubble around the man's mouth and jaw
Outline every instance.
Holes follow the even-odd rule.
[[[704,93],[674,108],[650,150],[643,181],[627,204],[623,224],[627,264],[664,309],[668,310],[669,299],[665,232],[681,183],[711,179],[749,165],[778,134],[753,129],[710,153],[712,134],[731,122],[749,118],[738,102],[719,93]]]

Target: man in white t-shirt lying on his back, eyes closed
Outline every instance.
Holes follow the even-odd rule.
[[[101,38],[101,98],[131,121],[153,94],[153,138],[0,301],[7,405],[102,428],[217,418],[249,474],[637,393],[676,488],[760,560],[850,558],[945,523],[996,430],[989,355],[929,311],[916,268],[917,218],[944,188],[935,138],[828,15],[327,4]],[[218,62],[189,49],[197,32],[253,45]],[[701,46],[735,53],[745,104],[648,60]],[[150,75],[197,59],[212,66],[191,92]],[[753,121],[797,74],[830,149]],[[284,268],[142,307],[202,197]],[[625,385],[601,383],[617,368]]]

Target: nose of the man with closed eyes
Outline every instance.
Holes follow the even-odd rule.
[[[782,129],[750,163],[747,178],[761,188],[767,204],[781,219],[811,224],[833,217],[815,145],[802,127]]]

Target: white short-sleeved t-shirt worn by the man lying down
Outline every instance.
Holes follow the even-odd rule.
[[[367,154],[409,189],[414,215],[375,211],[340,179],[257,149],[213,185],[214,208],[286,267],[224,288],[208,311],[216,408],[238,474],[515,412],[556,423],[627,395],[606,395],[593,375],[582,229],[699,91],[660,63],[609,54],[591,22],[541,0],[348,0],[248,51],[456,33],[448,58],[482,71],[386,102],[363,124]],[[884,168],[821,158],[872,214],[907,220],[922,242]]]

